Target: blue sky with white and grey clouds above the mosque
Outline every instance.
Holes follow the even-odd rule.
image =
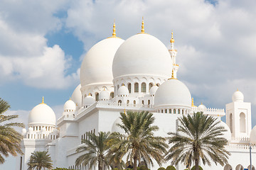
[[[41,103],[63,112],[80,84],[80,64],[92,45],[112,35],[146,33],[178,50],[178,79],[195,105],[225,108],[239,89],[256,125],[255,0],[1,0],[0,97],[27,124]],[[225,120],[225,119],[224,119]],[[8,160],[1,169],[15,169]]]

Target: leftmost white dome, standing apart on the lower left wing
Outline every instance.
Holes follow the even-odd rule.
[[[56,117],[46,103],[35,106],[28,115],[28,125],[55,125]]]

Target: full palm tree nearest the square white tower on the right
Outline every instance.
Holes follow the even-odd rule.
[[[204,115],[203,112],[193,113],[193,115],[183,115],[178,118],[181,125],[178,131],[169,132],[169,144],[173,146],[166,154],[166,161],[172,160],[171,164],[184,164],[191,166],[192,161],[198,170],[198,163],[201,159],[203,164],[210,166],[210,159],[222,166],[228,162],[230,153],[224,146],[227,140],[223,137],[225,128],[218,125],[217,118]]]

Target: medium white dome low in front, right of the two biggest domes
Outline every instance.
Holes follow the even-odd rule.
[[[191,93],[181,81],[169,79],[157,89],[154,106],[158,108],[169,106],[191,108]]]

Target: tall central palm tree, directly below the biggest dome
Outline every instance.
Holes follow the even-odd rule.
[[[166,152],[165,138],[154,136],[154,132],[159,130],[154,123],[154,117],[149,112],[132,112],[127,114],[120,113],[122,124],[117,124],[124,130],[124,134],[119,132],[112,133],[110,142],[110,155],[114,155],[121,162],[122,157],[127,155],[127,162],[133,162],[134,170],[137,170],[138,162],[146,162],[154,166],[152,158],[161,165],[164,162]]]

